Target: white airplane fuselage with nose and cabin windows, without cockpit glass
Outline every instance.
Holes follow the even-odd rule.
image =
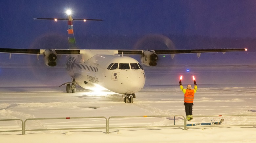
[[[88,54],[89,53],[89,54]],[[111,63],[139,63],[127,56],[92,53],[67,56],[66,70],[75,82],[85,89],[107,89],[119,94],[133,94],[144,87],[143,69],[107,69]],[[93,54],[92,54],[93,55]]]

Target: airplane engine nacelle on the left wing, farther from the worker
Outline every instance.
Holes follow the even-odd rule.
[[[45,50],[44,51],[44,64],[49,66],[49,67],[54,67],[57,65],[56,63],[57,60],[57,53],[52,50]]]

